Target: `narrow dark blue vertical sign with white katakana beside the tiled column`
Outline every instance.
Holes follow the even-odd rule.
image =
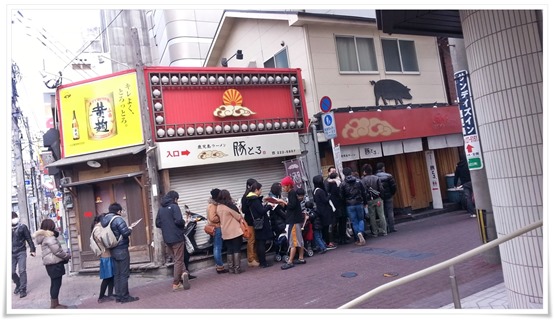
[[[474,117],[474,105],[468,71],[461,70],[455,73],[455,87],[463,127],[464,151],[468,161],[468,169],[482,169],[482,150],[478,137],[478,128]]]

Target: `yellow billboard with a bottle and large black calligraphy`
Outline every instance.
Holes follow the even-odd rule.
[[[143,143],[137,74],[62,88],[63,157]]]

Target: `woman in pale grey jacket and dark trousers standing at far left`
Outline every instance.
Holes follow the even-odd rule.
[[[58,295],[62,287],[62,276],[66,274],[65,264],[71,255],[64,251],[60,241],[59,233],[56,231],[56,223],[51,219],[45,219],[40,224],[40,230],[33,235],[38,245],[41,246],[42,264],[46,267],[46,273],[50,277],[50,308],[67,309],[67,305],[58,302]]]

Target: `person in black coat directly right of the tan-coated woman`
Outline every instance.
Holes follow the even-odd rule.
[[[270,266],[266,261],[266,241],[273,238],[272,226],[270,225],[270,216],[268,212],[272,209],[272,205],[262,204],[262,184],[256,182],[252,184],[247,194],[247,206],[252,215],[254,226],[254,246],[256,248],[256,256],[261,268]]]

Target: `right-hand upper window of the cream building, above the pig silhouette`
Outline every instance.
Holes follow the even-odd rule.
[[[386,72],[418,72],[416,48],[412,40],[382,39]]]

